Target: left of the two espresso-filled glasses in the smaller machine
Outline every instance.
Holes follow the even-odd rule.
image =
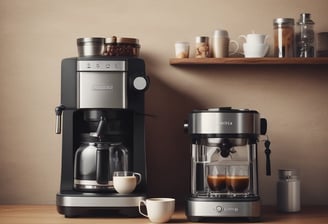
[[[226,167],[217,164],[207,166],[207,184],[211,191],[223,192],[226,190]]]

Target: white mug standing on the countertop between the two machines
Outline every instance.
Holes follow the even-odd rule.
[[[146,206],[147,214],[142,212],[141,206]],[[174,198],[148,198],[139,202],[139,213],[154,223],[168,222],[175,209]]]

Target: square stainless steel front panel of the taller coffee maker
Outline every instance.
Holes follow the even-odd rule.
[[[125,72],[79,72],[78,108],[127,108]]]

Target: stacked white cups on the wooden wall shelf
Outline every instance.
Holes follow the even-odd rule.
[[[269,50],[269,44],[265,43],[267,35],[251,33],[240,37],[246,40],[243,44],[245,58],[261,58],[267,54]]]

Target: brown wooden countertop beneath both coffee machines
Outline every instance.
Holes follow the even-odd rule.
[[[84,224],[84,223],[150,223],[140,218],[65,218],[54,205],[0,205],[1,224]],[[183,210],[178,210],[170,223],[188,223]],[[213,223],[213,222],[212,222]],[[215,223],[248,223],[241,220],[220,220]],[[274,207],[263,207],[259,223],[328,223],[328,206],[303,207],[299,213],[278,213]]]

